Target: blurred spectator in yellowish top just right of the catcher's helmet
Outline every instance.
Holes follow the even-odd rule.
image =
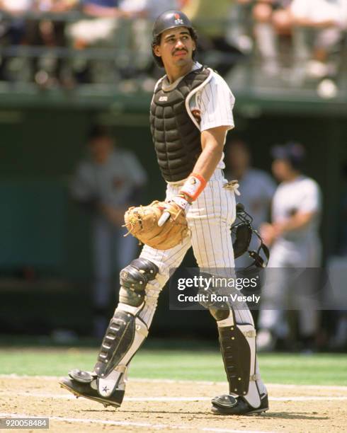
[[[202,62],[210,64],[221,75],[227,74],[243,55],[227,40],[233,7],[234,1],[231,0],[190,0],[183,8],[195,27],[200,29],[198,52]]]

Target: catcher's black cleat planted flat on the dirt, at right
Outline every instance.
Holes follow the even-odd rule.
[[[268,395],[261,398],[261,405],[253,408],[243,397],[229,395],[217,396],[212,399],[212,413],[215,415],[255,415],[268,410]]]

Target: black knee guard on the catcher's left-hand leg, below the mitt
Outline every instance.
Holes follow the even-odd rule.
[[[140,306],[147,283],[158,273],[157,265],[144,258],[132,260],[120,271],[119,300],[122,304]]]

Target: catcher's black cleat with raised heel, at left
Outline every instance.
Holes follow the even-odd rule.
[[[105,408],[113,406],[119,408],[124,398],[124,390],[115,389],[110,396],[101,396],[97,390],[98,377],[88,371],[72,370],[69,376],[60,379],[59,384],[62,388],[73,393],[76,398],[84,397],[89,400],[102,403]]]

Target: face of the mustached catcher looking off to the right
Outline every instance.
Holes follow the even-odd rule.
[[[160,45],[154,47],[154,54],[161,57],[164,67],[183,67],[192,62],[195,42],[186,27],[176,27],[161,33]]]

